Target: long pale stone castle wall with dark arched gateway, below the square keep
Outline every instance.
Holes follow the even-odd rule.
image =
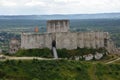
[[[107,40],[105,43],[104,39]],[[52,41],[56,41],[56,48],[76,49],[101,48],[109,44],[107,32],[57,32],[57,33],[23,33],[21,35],[21,48],[52,48]]]

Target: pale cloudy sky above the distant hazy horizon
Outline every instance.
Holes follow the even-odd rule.
[[[0,15],[120,12],[120,0],[0,0]]]

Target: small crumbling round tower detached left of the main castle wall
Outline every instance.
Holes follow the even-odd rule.
[[[16,53],[20,49],[20,42],[17,39],[11,39],[9,45],[9,53],[11,54]]]

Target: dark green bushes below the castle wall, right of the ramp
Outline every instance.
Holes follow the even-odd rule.
[[[107,50],[105,48],[93,49],[93,48],[79,48],[79,47],[73,50],[57,49],[57,53],[60,58],[72,58],[72,59],[74,59],[75,56],[83,56],[87,54],[94,55],[96,52],[106,53]]]

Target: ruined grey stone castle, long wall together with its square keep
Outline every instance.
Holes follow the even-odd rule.
[[[22,33],[21,48],[108,48],[109,40],[108,32],[70,32],[69,20],[49,20],[46,33]]]

